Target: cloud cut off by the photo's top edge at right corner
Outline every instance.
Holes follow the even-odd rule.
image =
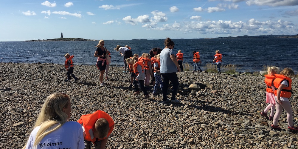
[[[297,0],[248,0],[246,1],[246,4],[251,6],[251,5],[258,5],[258,6],[263,6],[263,5],[268,5],[272,7],[277,7],[277,6],[296,6],[298,5]]]

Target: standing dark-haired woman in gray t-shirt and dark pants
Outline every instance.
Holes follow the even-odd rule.
[[[162,87],[162,98],[163,101],[167,101],[167,87],[171,81],[173,84],[171,102],[179,103],[180,101],[176,99],[179,85],[176,72],[180,72],[180,67],[173,51],[175,43],[170,38],[167,38],[164,40],[164,45],[165,48],[160,53],[159,70],[162,75],[162,82],[164,83],[164,86]]]

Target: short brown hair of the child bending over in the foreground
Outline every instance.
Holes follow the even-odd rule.
[[[109,130],[109,122],[106,119],[97,119],[97,121],[95,122],[95,131],[97,131],[98,133],[98,139],[105,138],[108,135]]]

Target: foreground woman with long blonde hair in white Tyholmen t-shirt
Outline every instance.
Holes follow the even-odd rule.
[[[23,149],[85,148],[83,129],[78,122],[68,122],[70,98],[65,93],[53,93],[46,98],[41,112]]]

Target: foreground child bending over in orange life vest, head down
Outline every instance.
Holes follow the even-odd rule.
[[[107,113],[97,110],[92,114],[82,115],[77,121],[82,125],[85,149],[104,149],[108,137],[114,129],[114,121]]]

